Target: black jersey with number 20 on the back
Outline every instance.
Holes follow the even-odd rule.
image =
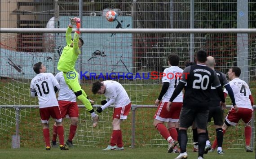
[[[211,86],[221,86],[216,72],[202,64],[186,67],[180,82],[187,84],[183,107],[200,107],[202,109],[208,109]]]

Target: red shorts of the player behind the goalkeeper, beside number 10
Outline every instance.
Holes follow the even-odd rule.
[[[59,100],[58,103],[61,110],[62,118],[79,116],[79,109],[76,102]]]

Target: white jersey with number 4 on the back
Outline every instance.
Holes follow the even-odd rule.
[[[252,93],[247,83],[240,78],[234,78],[229,83],[234,92],[236,105],[238,107],[252,109],[251,101],[249,99],[249,95],[252,95]],[[224,90],[224,92],[228,94],[228,91],[226,89]]]

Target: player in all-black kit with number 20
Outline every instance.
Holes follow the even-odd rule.
[[[172,102],[186,86],[183,99],[183,106],[180,114],[180,128],[178,142],[181,153],[176,159],[186,159],[186,145],[188,142],[187,129],[194,121],[198,132],[199,159],[203,158],[206,143],[206,127],[209,114],[209,103],[211,96],[211,86],[215,87],[221,97],[221,106],[225,106],[225,98],[216,72],[205,65],[207,53],[199,50],[196,53],[196,65],[188,66],[184,69],[182,78],[175,88],[167,107],[172,108]]]

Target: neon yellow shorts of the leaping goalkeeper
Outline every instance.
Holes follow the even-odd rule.
[[[63,76],[66,82],[66,85],[73,90],[73,92],[77,92],[81,89],[81,86],[78,81],[79,74],[73,70],[69,72],[63,72]]]

